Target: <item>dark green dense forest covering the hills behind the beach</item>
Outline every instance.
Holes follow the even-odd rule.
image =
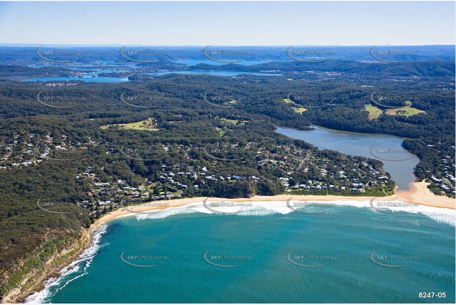
[[[1,52],[5,51],[0,48]],[[14,56],[5,59],[16,60]],[[314,148],[274,132],[276,126],[308,129],[319,125],[407,138],[404,148],[417,151],[420,158],[415,169],[419,180],[444,179],[448,164],[455,160],[455,62],[385,65],[328,60],[253,66],[199,64],[189,68],[163,60],[138,67],[142,72],[178,68],[273,71],[282,76],[137,74],[123,83],[76,80],[51,86],[53,82],[21,82],[6,76],[66,76],[68,67],[0,65],[0,153],[9,156],[0,163],[0,295],[18,284],[23,272],[37,266],[38,248],[52,251],[62,247],[63,239],[79,236],[81,227],[90,227],[103,213],[87,194],[93,189],[93,181],[84,180],[81,173],[93,173],[99,183],[121,181],[135,189],[149,183],[150,198],[155,199],[161,194],[166,198],[168,191],[182,197],[231,198],[284,193],[279,178],[286,177],[287,172],[294,172],[290,175],[293,183],[310,180],[318,182],[317,188],[338,182],[330,175],[321,175],[316,165],[335,172],[357,170],[361,174],[356,181],[362,185],[373,179],[371,173],[378,173],[385,182],[369,185],[366,192],[373,196],[394,190],[395,184],[382,171],[382,163],[373,159],[315,152],[313,157],[320,163],[315,161],[315,166],[301,171],[304,152]],[[409,97],[387,99],[388,106],[408,107],[416,114],[392,115],[388,107],[378,106],[379,114],[373,118],[366,111],[373,93]],[[83,147],[84,152],[56,158],[63,146],[60,142]],[[41,157],[44,150],[39,152],[40,147],[46,147],[53,158]],[[287,156],[290,150],[294,153]],[[42,162],[16,166],[23,152]],[[279,162],[262,164],[265,154]],[[454,164],[450,165],[454,174]],[[176,186],[163,182],[164,171],[187,173],[204,168],[211,179],[206,179],[208,174],[195,179],[183,175],[175,179]],[[239,178],[230,183],[218,179],[227,176]],[[186,188],[179,190],[177,183]],[[432,187],[442,193],[438,185]],[[316,190],[316,194],[329,191]],[[100,195],[103,200],[109,197]],[[54,214],[38,208],[38,200],[87,203],[58,206],[54,211],[66,214]],[[19,258],[26,262],[23,268],[10,269]]]

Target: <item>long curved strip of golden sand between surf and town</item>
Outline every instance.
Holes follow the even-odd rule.
[[[449,198],[447,196],[438,196],[429,191],[427,188],[428,183],[426,182],[415,182],[410,186],[408,191],[396,191],[394,195],[386,197],[377,197],[376,200],[382,201],[402,201],[407,203],[414,203],[426,206],[433,206],[438,208],[447,208],[455,209],[456,200]],[[369,196],[335,196],[335,195],[290,195],[290,194],[281,194],[275,196],[253,196],[251,198],[210,198],[211,200],[217,201],[232,201],[232,202],[254,202],[254,201],[287,201],[291,196],[293,199],[297,200],[315,200],[315,201],[369,201],[372,197]],[[182,198],[182,199],[172,199],[172,200],[162,200],[155,201],[159,203],[160,206],[129,206],[128,210],[133,210],[135,212],[146,212],[150,210],[163,210],[169,207],[182,206],[189,203],[202,202],[205,197],[194,197],[194,198]],[[164,204],[166,202],[166,206]],[[131,211],[126,209],[118,209],[114,212],[111,212],[96,221],[91,229],[99,228],[100,224],[107,222],[109,220],[115,219],[117,217],[127,216],[128,214],[134,215]]]

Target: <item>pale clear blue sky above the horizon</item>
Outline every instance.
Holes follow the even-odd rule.
[[[455,44],[455,2],[0,2],[0,43]]]

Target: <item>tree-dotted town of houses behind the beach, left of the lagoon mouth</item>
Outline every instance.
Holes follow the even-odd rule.
[[[136,154],[122,152],[118,145],[72,141],[66,135],[33,133],[12,134],[1,147],[2,159],[0,169],[25,166],[39,166],[42,162],[65,162],[84,158],[95,148],[102,148],[106,155],[115,159],[104,167],[90,165],[85,171],[75,174],[78,190],[75,206],[91,210],[94,218],[112,209],[118,208],[122,200],[129,204],[140,204],[148,201],[204,196],[206,191],[219,184],[236,182],[258,182],[272,179],[261,173],[274,172],[277,183],[289,194],[339,194],[368,195],[369,191],[380,191],[385,195],[394,190],[394,182],[379,167],[381,163],[362,157],[344,156],[334,160],[325,153],[315,149],[298,149],[278,145],[267,149],[256,142],[230,144],[227,152],[247,152],[242,159],[231,160],[215,156],[217,150],[208,146],[184,146],[162,144],[162,158],[175,160],[176,163],[145,163],[149,175],[138,175],[132,169],[130,174],[140,179],[121,179],[118,175],[107,175],[106,167],[129,164]],[[125,150],[133,152],[133,150]],[[220,150],[218,150],[220,151]],[[196,152],[196,153],[195,153]],[[178,154],[169,159],[170,154]],[[166,157],[167,156],[167,157]],[[143,155],[144,157],[144,155]],[[166,158],[165,158],[166,157]],[[179,160],[179,161],[177,161]],[[181,161],[184,160],[184,161]],[[256,167],[252,173],[248,170],[230,170],[232,162],[249,162]]]

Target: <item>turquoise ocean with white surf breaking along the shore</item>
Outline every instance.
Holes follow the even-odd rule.
[[[206,206],[109,221],[27,302],[455,303],[454,210]]]

